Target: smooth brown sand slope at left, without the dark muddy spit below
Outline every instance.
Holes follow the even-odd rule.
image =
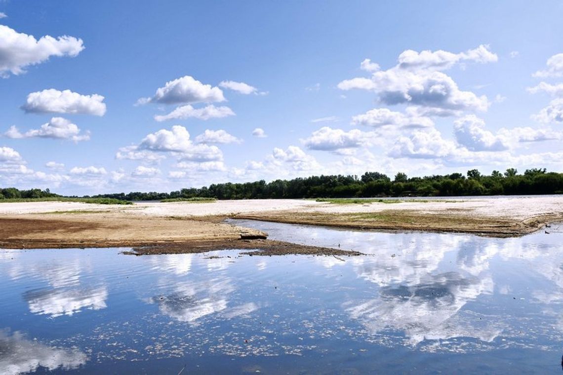
[[[215,220],[65,213],[0,216],[0,248],[140,247],[185,241],[266,238],[266,233]]]

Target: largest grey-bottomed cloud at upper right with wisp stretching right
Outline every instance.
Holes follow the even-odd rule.
[[[379,101],[388,105],[407,103],[448,111],[484,111],[489,106],[485,96],[477,97],[472,92],[459,90],[454,80],[440,71],[463,60],[493,62],[497,61],[497,55],[490,52],[487,46],[457,54],[408,50],[401,53],[396,66],[384,71],[372,71],[370,78],[343,80],[338,88],[376,92]]]

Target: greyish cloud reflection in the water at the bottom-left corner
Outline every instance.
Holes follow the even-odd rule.
[[[2,374],[34,372],[39,367],[49,371],[76,369],[86,363],[87,356],[78,349],[50,347],[29,340],[20,332],[12,335],[0,330],[0,371]]]

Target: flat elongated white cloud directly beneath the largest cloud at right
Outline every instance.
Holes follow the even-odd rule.
[[[427,128],[433,126],[434,121],[426,116],[419,116],[414,110],[407,109],[403,114],[387,108],[378,108],[352,117],[352,125],[367,125],[374,128],[387,125],[399,128]]]

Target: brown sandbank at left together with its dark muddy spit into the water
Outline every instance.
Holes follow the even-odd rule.
[[[0,217],[0,248],[132,247],[126,254],[181,254],[242,249],[248,255],[361,255],[360,252],[266,240],[256,229],[203,220],[108,213]]]

